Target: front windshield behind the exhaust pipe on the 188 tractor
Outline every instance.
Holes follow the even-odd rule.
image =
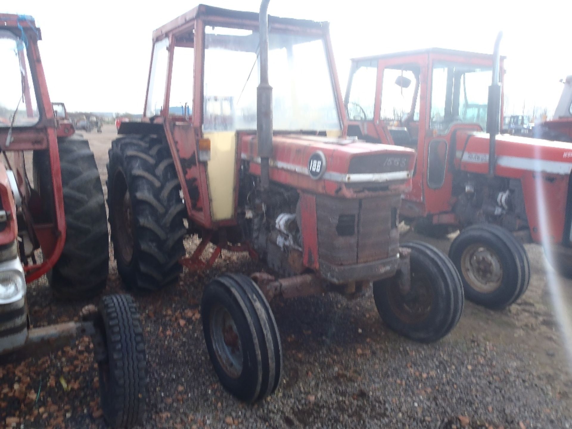
[[[341,129],[324,39],[272,31],[268,39],[273,128]],[[259,60],[257,31],[206,27],[203,130],[256,129]]]

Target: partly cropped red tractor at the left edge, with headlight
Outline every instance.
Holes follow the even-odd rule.
[[[81,321],[33,327],[27,283],[47,275],[60,299],[106,285],[109,237],[104,193],[86,140],[65,108],[50,103],[33,17],[0,14],[0,358],[18,362],[90,336],[101,406],[112,427],[140,422],[146,358],[133,299],[109,295]],[[63,117],[56,116],[61,112]]]

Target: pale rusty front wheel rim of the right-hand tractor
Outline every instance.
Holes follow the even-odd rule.
[[[461,271],[468,284],[480,293],[492,293],[501,287],[501,259],[495,251],[483,244],[475,243],[464,249]]]

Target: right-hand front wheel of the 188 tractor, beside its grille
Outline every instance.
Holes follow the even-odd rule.
[[[399,334],[422,343],[446,336],[463,312],[459,273],[439,249],[420,241],[411,250],[411,289],[400,291],[398,276],[374,282],[375,306],[382,320]]]

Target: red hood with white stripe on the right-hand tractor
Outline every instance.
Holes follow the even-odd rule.
[[[452,142],[455,165],[472,173],[488,172],[489,134],[458,132]],[[522,177],[525,172],[569,176],[572,171],[572,145],[566,142],[499,134],[496,136],[495,174]]]

